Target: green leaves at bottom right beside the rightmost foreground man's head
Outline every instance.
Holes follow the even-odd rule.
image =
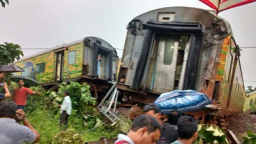
[[[197,131],[200,144],[229,144],[226,135],[218,126],[199,124]]]

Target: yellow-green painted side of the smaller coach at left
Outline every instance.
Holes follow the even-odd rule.
[[[66,50],[64,50],[63,80],[81,76],[83,68],[83,43],[68,46],[65,49]],[[21,68],[30,67],[29,76],[34,78],[40,84],[54,82],[56,74],[56,51],[58,50],[41,54],[26,60],[22,60],[14,64],[20,66]],[[75,63],[68,64],[68,53],[72,51],[75,51]],[[44,72],[37,73],[36,66],[41,63],[45,63]],[[20,76],[21,74],[21,72],[17,72],[16,76]]]

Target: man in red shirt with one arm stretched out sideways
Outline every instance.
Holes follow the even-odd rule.
[[[13,91],[12,100],[17,104],[18,109],[24,110],[26,106],[26,100],[28,94],[39,94],[38,92],[34,92],[29,88],[24,87],[24,80],[18,80],[19,88]]]

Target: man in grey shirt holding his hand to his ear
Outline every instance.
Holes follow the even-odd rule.
[[[16,123],[16,119],[23,122],[24,126]],[[26,120],[22,109],[18,110],[13,101],[0,103],[0,140],[1,144],[36,143],[40,135]]]

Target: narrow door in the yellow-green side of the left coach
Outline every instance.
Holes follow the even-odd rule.
[[[63,64],[64,64],[64,50],[56,52],[56,75],[55,79],[57,81],[62,80],[63,74]]]

